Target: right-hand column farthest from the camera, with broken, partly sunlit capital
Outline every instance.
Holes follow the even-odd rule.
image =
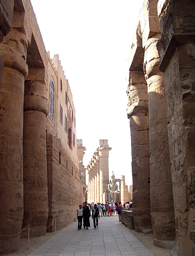
[[[152,228],[148,95],[143,70],[128,72],[127,85],[129,106],[127,116],[131,129],[133,220],[135,231],[143,232],[144,229]]]

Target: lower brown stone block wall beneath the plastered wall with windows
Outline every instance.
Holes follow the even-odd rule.
[[[76,209],[82,204],[83,188],[79,179],[79,169],[62,147],[60,139],[47,134],[48,172],[48,226],[57,216],[56,228],[60,229],[74,221]],[[54,231],[54,222],[48,228]]]

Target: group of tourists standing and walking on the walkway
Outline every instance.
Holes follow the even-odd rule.
[[[131,202],[126,202],[123,205],[121,202],[115,201],[115,203],[107,202],[92,204],[83,202],[83,205],[80,204],[79,209],[77,209],[77,219],[78,219],[78,230],[82,229],[82,219],[83,227],[88,229],[90,227],[90,217],[92,217],[94,222],[94,229],[98,227],[98,220],[101,217],[118,215],[119,221],[121,221],[121,211],[122,210],[131,210],[132,209],[132,200]]]

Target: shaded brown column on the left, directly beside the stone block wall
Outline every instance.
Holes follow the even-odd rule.
[[[41,236],[48,221],[48,180],[46,159],[46,116],[48,115],[48,81],[44,68],[29,69],[25,82],[23,125],[23,228],[31,236]]]

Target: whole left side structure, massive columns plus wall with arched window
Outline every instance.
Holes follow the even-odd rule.
[[[59,57],[46,52],[30,0],[0,1],[0,10],[2,254],[19,249],[28,229],[10,235],[28,223],[30,236],[39,236],[54,231],[55,217],[57,229],[74,221],[83,186],[73,97]]]

